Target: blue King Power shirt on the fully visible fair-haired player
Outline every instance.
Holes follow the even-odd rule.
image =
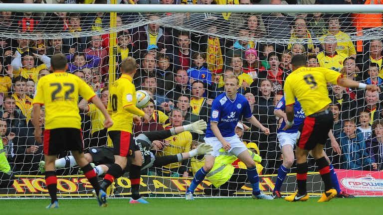
[[[250,105],[246,98],[241,94],[237,94],[235,100],[232,101],[227,98],[226,93],[222,93],[211,104],[211,117],[207,123],[206,137],[215,137],[210,128],[212,121],[218,123],[218,129],[223,137],[236,135],[234,132],[235,126],[241,115],[245,118],[252,116]]]

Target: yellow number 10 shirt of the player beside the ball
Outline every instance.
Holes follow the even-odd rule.
[[[129,75],[123,74],[109,90],[108,111],[112,112],[113,125],[111,130],[127,131],[132,133],[133,113],[125,109],[127,106],[136,105],[136,87]]]

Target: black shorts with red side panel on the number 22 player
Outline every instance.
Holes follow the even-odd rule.
[[[58,155],[64,151],[84,152],[82,132],[77,128],[44,130],[44,154]]]

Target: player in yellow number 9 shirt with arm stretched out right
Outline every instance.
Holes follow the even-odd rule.
[[[325,68],[306,67],[307,57],[295,55],[292,60],[293,72],[287,76],[284,85],[286,101],[286,125],[284,130],[294,125],[295,98],[301,104],[306,118],[299,127],[298,147],[295,151],[297,159],[297,193],[286,197],[286,201],[306,201],[309,199],[306,191],[307,180],[307,155],[312,150],[322,180],[325,183],[325,192],[318,202],[330,201],[337,195],[331,183],[329,163],[323,155],[323,148],[327,141],[328,133],[333,126],[333,114],[329,109],[331,100],[327,90],[327,83],[337,84],[349,88],[361,88],[377,91],[375,85],[366,85],[345,79],[342,74]]]

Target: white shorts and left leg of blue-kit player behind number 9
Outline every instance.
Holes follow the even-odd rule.
[[[283,155],[283,163],[278,169],[278,176],[273,190],[274,199],[282,198],[280,192],[283,181],[285,180],[287,173],[290,172],[290,168],[294,163],[293,149],[297,139],[297,133],[279,133],[278,139]]]

